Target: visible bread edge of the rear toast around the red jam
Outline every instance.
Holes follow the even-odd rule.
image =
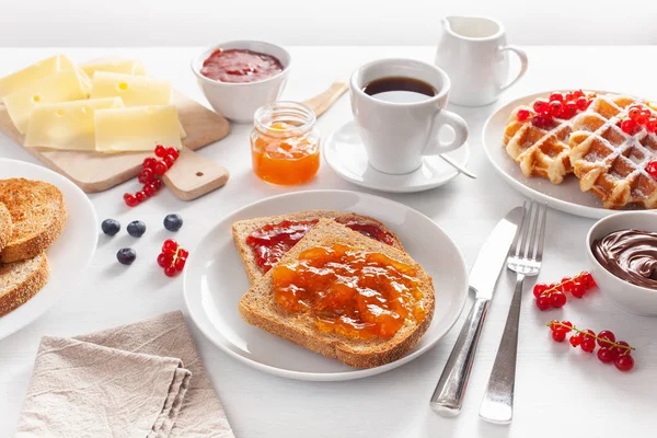
[[[264,272],[255,262],[253,250],[246,244],[246,238],[251,235],[255,230],[272,223],[280,223],[284,220],[319,220],[319,219],[351,219],[362,224],[378,226],[381,230],[389,234],[392,246],[397,250],[404,251],[402,242],[399,238],[388,229],[383,223],[377,219],[370,218],[369,216],[356,215],[355,212],[335,211],[335,210],[306,210],[292,212],[289,215],[281,216],[268,216],[264,218],[240,220],[232,226],[233,241],[238,247],[238,253],[242,258],[244,270],[249,276],[249,283],[255,285],[263,277]]]

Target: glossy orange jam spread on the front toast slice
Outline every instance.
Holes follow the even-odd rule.
[[[311,247],[273,270],[274,297],[318,330],[348,338],[391,338],[426,315],[415,267],[342,244]]]

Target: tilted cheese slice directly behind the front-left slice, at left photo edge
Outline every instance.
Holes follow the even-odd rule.
[[[25,134],[30,116],[39,103],[58,103],[87,99],[80,74],[74,69],[61,70],[2,99],[11,122]]]

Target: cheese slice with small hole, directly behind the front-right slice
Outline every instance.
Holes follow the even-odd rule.
[[[146,76],[96,71],[92,80],[91,99],[101,97],[120,97],[126,106],[169,105],[171,84]]]

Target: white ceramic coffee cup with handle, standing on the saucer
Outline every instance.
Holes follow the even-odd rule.
[[[434,96],[414,102],[390,102],[368,95],[364,88],[383,78],[410,78],[425,82]],[[366,64],[349,82],[351,112],[368,161],[380,172],[404,174],[417,170],[423,157],[449,152],[468,139],[468,125],[447,106],[450,81],[445,71],[413,59],[381,59]],[[445,126],[453,129],[451,141],[441,141]]]

